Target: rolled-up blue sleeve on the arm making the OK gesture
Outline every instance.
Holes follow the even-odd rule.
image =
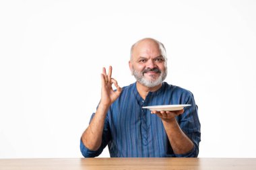
[[[94,115],[95,113],[92,114],[90,122],[92,121],[92,118],[94,117]],[[106,147],[106,145],[110,141],[110,136],[111,135],[110,135],[109,124],[108,124],[108,116],[106,116],[103,132],[102,132],[102,143],[100,145],[100,148],[98,148],[97,151],[92,151],[84,145],[84,143],[82,142],[82,138],[80,138],[80,151],[82,155],[84,157],[98,157],[98,155],[102,153],[103,149]]]

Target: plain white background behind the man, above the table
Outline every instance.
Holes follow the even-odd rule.
[[[199,157],[256,157],[256,1],[0,1],[0,158],[82,157],[102,67],[133,83],[160,40],[166,81],[199,106]],[[105,149],[101,157],[109,157]]]

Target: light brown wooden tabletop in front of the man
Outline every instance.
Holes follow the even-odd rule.
[[[256,159],[221,158],[89,158],[0,159],[0,169],[217,169],[255,170]]]

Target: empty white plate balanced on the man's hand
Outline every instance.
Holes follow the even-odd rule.
[[[178,104],[178,105],[151,105],[144,106],[143,109],[149,109],[151,111],[175,111],[175,110],[183,110],[183,108],[190,106],[191,104]]]

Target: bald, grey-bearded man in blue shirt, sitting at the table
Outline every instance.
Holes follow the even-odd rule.
[[[164,45],[144,38],[131,47],[129,67],[135,83],[121,88],[111,77],[112,67],[108,73],[103,68],[100,103],[80,141],[84,157],[97,157],[107,144],[110,157],[197,157],[197,105],[190,91],[163,82],[166,60]],[[191,106],[173,112],[142,108],[170,104]]]

